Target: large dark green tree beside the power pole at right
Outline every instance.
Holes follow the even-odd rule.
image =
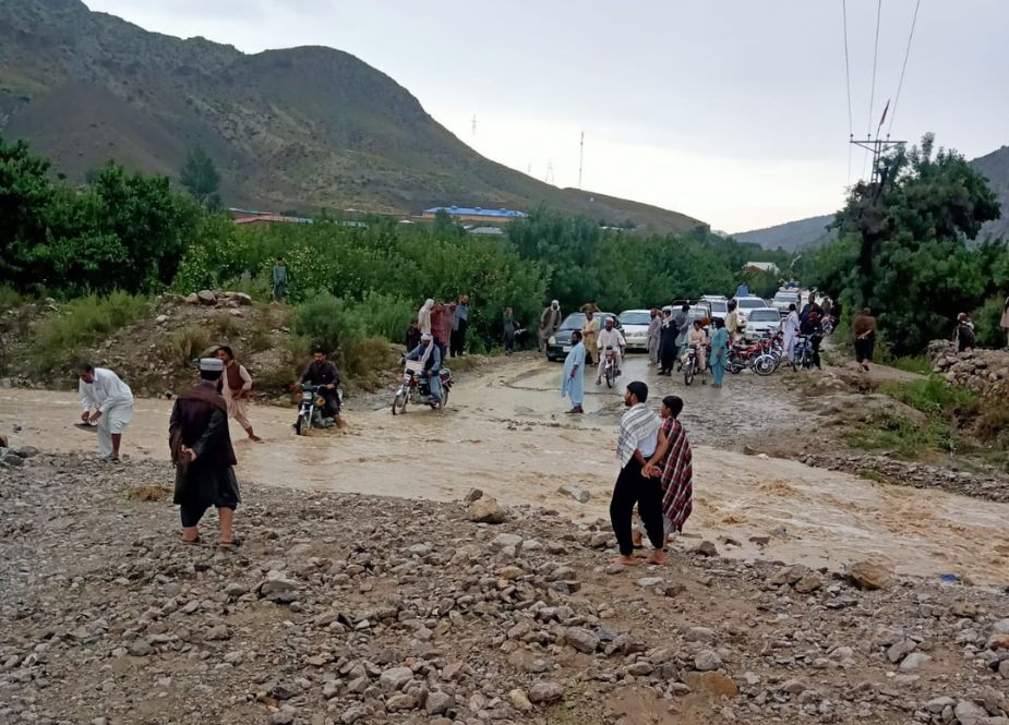
[[[881,182],[860,183],[837,215],[840,237],[802,264],[804,281],[833,293],[849,316],[868,306],[896,355],[948,338],[960,312],[982,309],[994,340],[993,299],[1009,290],[1004,241],[974,240],[999,205],[985,178],[926,135],[882,158]],[[999,346],[1000,347],[1000,346]]]

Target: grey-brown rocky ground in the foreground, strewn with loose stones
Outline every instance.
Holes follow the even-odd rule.
[[[254,482],[241,548],[185,546],[165,463],[22,452],[2,723],[1009,723],[1000,593]]]

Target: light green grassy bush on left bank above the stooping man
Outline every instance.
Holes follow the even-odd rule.
[[[35,328],[29,352],[32,365],[43,374],[73,372],[86,348],[141,318],[148,310],[148,298],[125,292],[73,300]]]

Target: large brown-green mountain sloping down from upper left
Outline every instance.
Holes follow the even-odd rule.
[[[0,0],[0,134],[27,140],[71,179],[109,158],[176,176],[199,144],[233,206],[416,214],[544,202],[647,231],[702,225],[495,164],[346,52],[245,55],[148,33],[80,0]]]

